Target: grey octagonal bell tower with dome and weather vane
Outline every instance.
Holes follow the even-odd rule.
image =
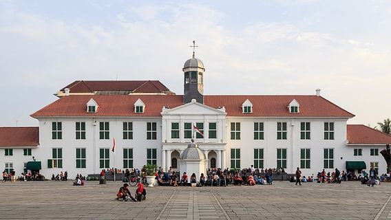
[[[195,41],[193,41],[193,57],[184,63],[184,96],[183,103],[189,103],[192,99],[204,104],[204,63],[195,58]]]

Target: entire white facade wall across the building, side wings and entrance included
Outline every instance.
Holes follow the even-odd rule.
[[[364,161],[367,170],[370,162],[379,162],[379,173],[385,173],[385,160],[380,154],[384,146],[346,144],[346,118],[226,117],[225,112],[219,109],[195,105],[186,111],[182,109],[183,112],[178,110],[179,107],[169,109],[171,113],[162,113],[162,118],[39,118],[40,146],[32,150],[32,155],[42,162],[41,173],[47,178],[52,173],[65,170],[70,178],[77,173],[99,173],[99,148],[110,149],[110,168],[114,167],[111,148],[115,138],[117,168],[123,169],[123,148],[133,148],[134,168],[147,163],[147,148],[156,148],[157,165],[167,170],[171,166],[171,157],[178,157],[191,142],[184,139],[184,122],[204,122],[205,136],[196,139],[196,142],[207,157],[215,157],[218,167],[230,167],[231,148],[240,148],[241,168],[253,164],[254,148],[264,148],[264,168],[276,168],[277,148],[286,148],[286,171],[293,173],[300,166],[300,149],[310,148],[310,168],[301,170],[303,175],[316,175],[324,168],[324,148],[333,148],[334,168],[326,169],[326,172],[332,172],[335,168],[346,170],[346,161]],[[62,122],[62,140],[52,140],[52,122]],[[85,122],[86,140],[76,140],[76,122]],[[109,140],[99,139],[99,122],[109,122]],[[123,122],[133,122],[133,140],[123,140]],[[147,122],[156,122],[156,140],[147,140]],[[171,139],[171,122],[180,123],[179,139]],[[217,123],[217,138],[213,140],[209,140],[207,135],[209,122]],[[231,122],[240,122],[240,140],[231,140]],[[254,122],[264,123],[264,140],[254,140]],[[277,122],[287,122],[287,140],[277,140]],[[310,122],[310,140],[300,139],[300,122]],[[334,122],[334,140],[324,140],[324,122]],[[47,168],[47,159],[52,158],[52,148],[63,149],[63,168]],[[86,148],[86,168],[76,168],[76,148]],[[363,155],[353,156],[353,148],[362,148]],[[379,148],[379,155],[370,156],[370,148]],[[23,149],[15,148],[13,156],[0,155],[4,163],[13,162],[17,173],[23,172],[23,162],[31,161],[31,157],[23,156]],[[208,164],[210,166],[210,162]]]

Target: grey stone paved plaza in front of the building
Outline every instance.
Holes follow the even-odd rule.
[[[391,219],[388,183],[157,186],[147,188],[147,200],[137,203],[114,200],[122,184],[2,183],[0,219]]]

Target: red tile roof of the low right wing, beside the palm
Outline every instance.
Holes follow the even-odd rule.
[[[391,135],[363,124],[348,124],[348,144],[391,144]]]

